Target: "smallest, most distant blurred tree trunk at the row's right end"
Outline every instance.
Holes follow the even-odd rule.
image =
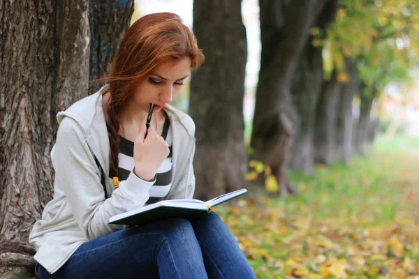
[[[373,95],[365,92],[361,93],[360,117],[358,119],[358,129],[356,133],[356,151],[357,153],[365,152],[365,143],[367,142],[368,130],[372,127],[370,123],[370,114],[372,108]]]

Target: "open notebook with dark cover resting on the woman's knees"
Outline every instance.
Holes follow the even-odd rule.
[[[168,199],[112,216],[110,224],[141,225],[154,220],[171,217],[188,217],[209,213],[212,207],[247,193],[246,189],[221,195],[207,202],[199,199]]]

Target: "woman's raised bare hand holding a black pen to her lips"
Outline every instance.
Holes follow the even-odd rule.
[[[156,128],[150,125],[147,128],[143,123],[134,142],[135,174],[143,180],[152,180],[157,169],[169,155],[169,146],[163,137],[156,133]]]

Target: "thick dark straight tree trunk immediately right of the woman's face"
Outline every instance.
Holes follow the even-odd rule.
[[[241,1],[195,1],[193,31],[206,58],[192,75],[189,106],[196,122],[196,197],[206,199],[247,185]]]

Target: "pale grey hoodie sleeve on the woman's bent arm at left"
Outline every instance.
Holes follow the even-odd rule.
[[[112,192],[112,197],[105,199],[101,177],[82,128],[69,117],[59,125],[51,158],[54,187],[64,191],[75,220],[89,240],[122,229],[121,225],[109,225],[109,218],[144,206],[155,182],[155,179],[144,181],[131,172]]]

